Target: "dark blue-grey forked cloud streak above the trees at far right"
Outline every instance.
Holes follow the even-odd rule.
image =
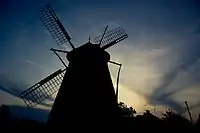
[[[198,75],[198,72],[197,72],[200,66],[196,64],[199,58],[200,58],[200,55],[196,54],[195,56],[193,56],[193,58],[186,61],[185,64],[173,69],[172,71],[164,75],[162,84],[158,88],[155,88],[153,93],[150,95],[150,102],[152,104],[165,105],[165,106],[168,106],[169,108],[175,109],[179,113],[183,113],[184,103],[179,103],[173,100],[172,97],[170,96],[177,94],[178,92],[181,92],[184,89],[186,89],[189,85],[198,83],[200,81],[200,75]],[[193,68],[195,67],[195,69],[189,70],[190,67],[193,67]],[[169,86],[172,85],[174,82],[176,82],[178,75],[181,72],[188,72],[190,74],[190,76],[187,77],[189,82],[185,81],[188,83],[182,83],[180,88],[170,88]],[[199,104],[194,105],[194,106],[196,107],[198,105]]]

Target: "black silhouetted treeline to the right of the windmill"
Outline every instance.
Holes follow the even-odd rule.
[[[121,125],[123,129],[131,132],[200,132],[200,119],[190,122],[187,118],[167,110],[160,118],[146,110],[142,115],[136,115],[132,107],[120,103],[123,110]]]

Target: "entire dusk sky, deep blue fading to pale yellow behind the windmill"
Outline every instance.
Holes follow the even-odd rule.
[[[200,113],[198,0],[1,0],[0,104],[24,105],[20,92],[63,68],[49,50],[60,47],[39,18],[44,4],[55,10],[75,47],[106,25],[124,28],[129,37],[106,50],[123,64],[120,101],[138,112],[170,108],[188,117],[187,100],[193,117]],[[118,67],[109,68],[115,86]]]

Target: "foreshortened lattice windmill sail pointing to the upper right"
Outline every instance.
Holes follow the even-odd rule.
[[[105,33],[105,35],[100,35],[94,38],[94,43],[99,44],[101,42],[101,48],[107,49],[108,47],[126,39],[128,35],[123,28],[117,27]]]

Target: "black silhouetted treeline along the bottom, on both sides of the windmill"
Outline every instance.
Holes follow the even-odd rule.
[[[119,103],[120,128],[129,132],[200,132],[200,119],[192,123],[172,110],[167,110],[161,118],[146,110],[142,115],[136,115],[135,109]],[[0,132],[46,131],[45,123],[29,119],[13,118],[7,106],[0,107]]]

